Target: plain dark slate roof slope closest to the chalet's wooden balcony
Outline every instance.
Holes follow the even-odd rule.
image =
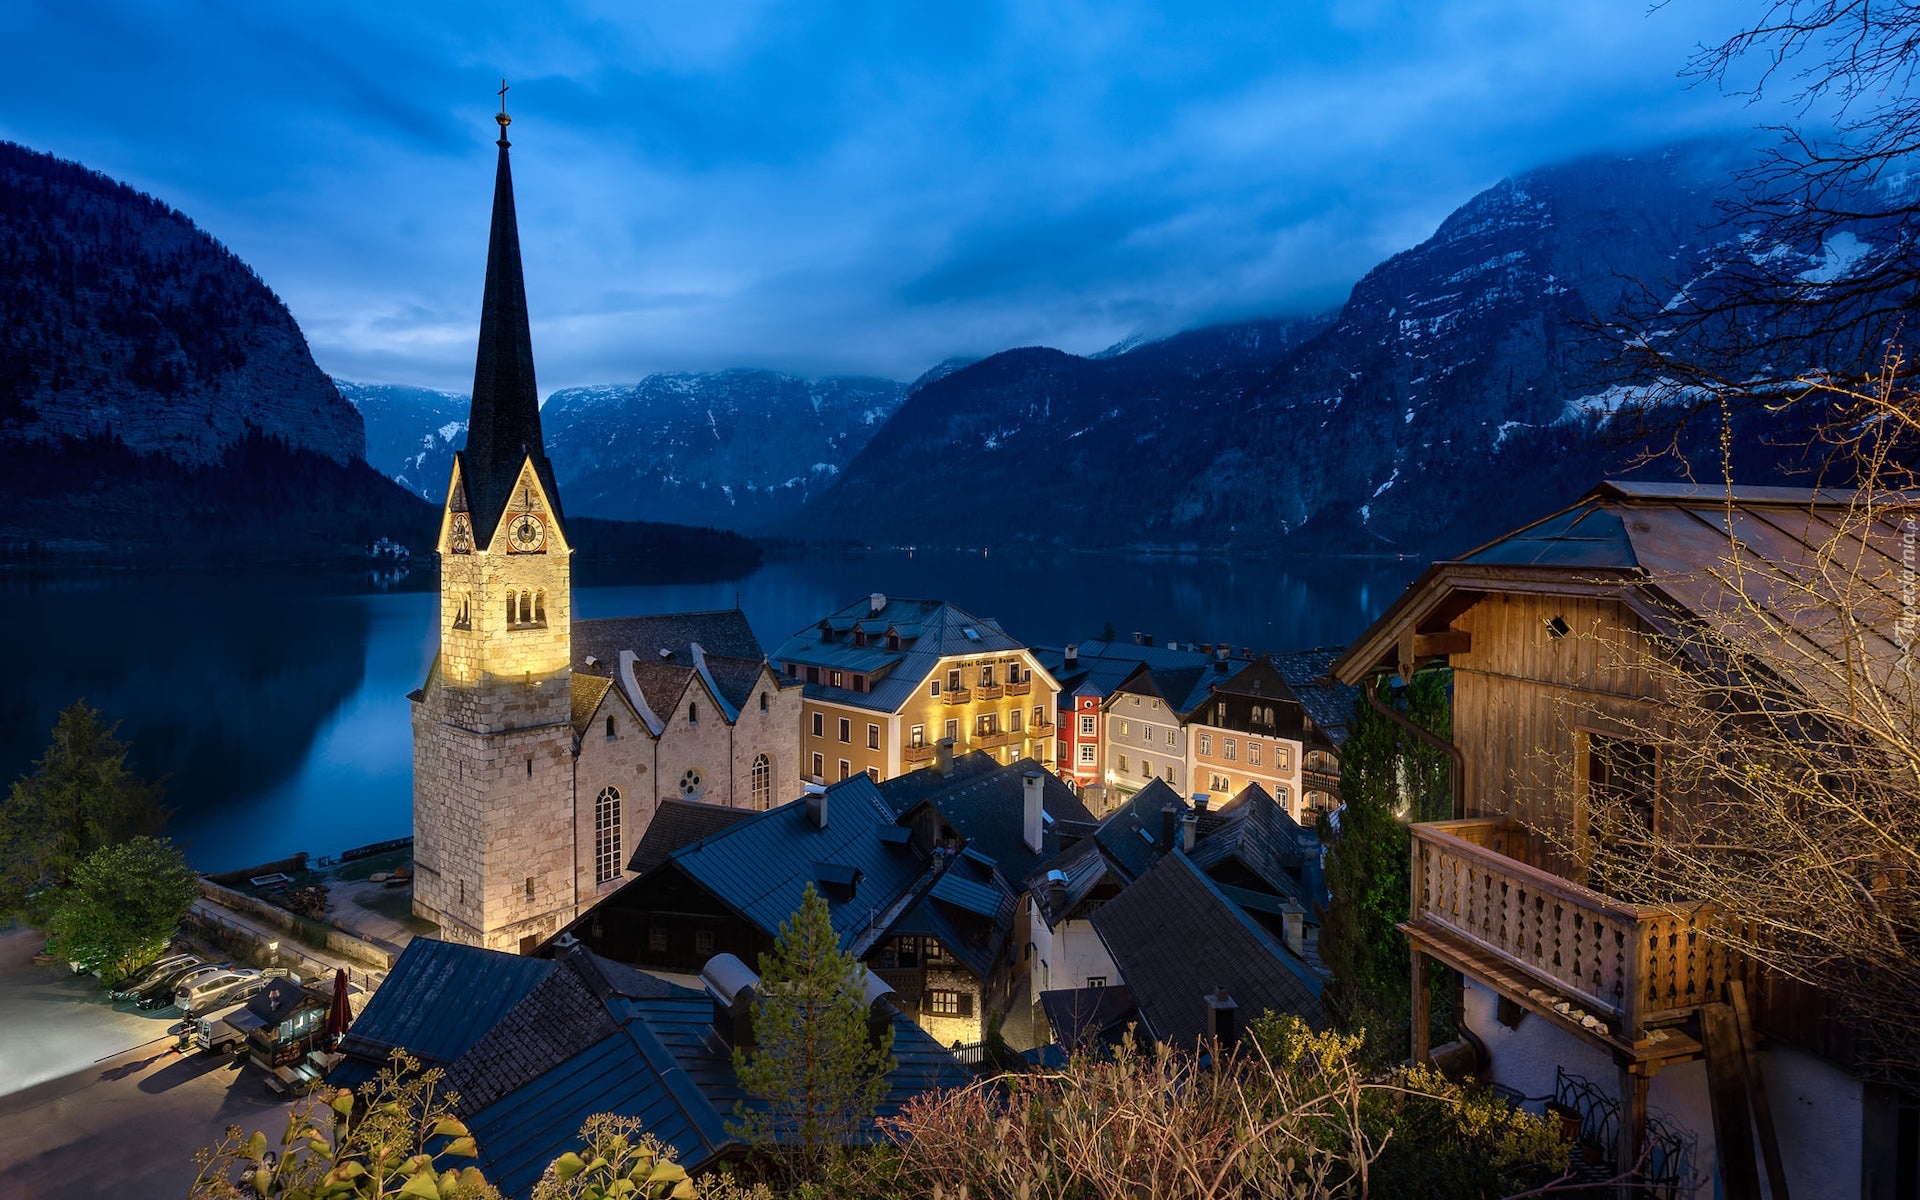
[[[1321,1023],[1321,979],[1185,854],[1165,854],[1092,914],[1092,927],[1164,1043],[1206,1037],[1204,996],[1225,987],[1240,1020],[1292,1012]]]

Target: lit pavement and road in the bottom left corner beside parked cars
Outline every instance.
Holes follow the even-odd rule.
[[[0,933],[0,1200],[184,1198],[227,1125],[278,1140],[292,1104],[255,1068],[173,1052],[177,1014],[108,1002]]]

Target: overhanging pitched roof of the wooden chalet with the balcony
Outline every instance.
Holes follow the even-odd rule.
[[[1346,649],[1334,674],[1357,684],[1398,670],[1409,637],[1442,634],[1478,597],[1501,591],[1613,595],[1653,628],[1711,622],[1809,689],[1836,685],[1828,674],[1862,655],[1874,674],[1897,670],[1893,618],[1905,572],[1893,515],[1910,507],[1887,505],[1862,526],[1849,516],[1853,499],[1809,488],[1603,482],[1569,509],[1428,566]],[[1857,570],[1849,582],[1857,601],[1889,620],[1837,628],[1820,599],[1834,589],[1818,574],[1822,561]],[[1730,591],[1726,580],[1736,576],[1759,612],[1743,611]]]

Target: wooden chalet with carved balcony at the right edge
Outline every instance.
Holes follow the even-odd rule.
[[[1686,803],[1657,749],[1636,739],[1661,716],[1657,682],[1640,666],[1649,643],[1676,622],[1728,611],[1716,576],[1734,545],[1766,593],[1816,545],[1847,538],[1847,499],[1601,484],[1571,509],[1434,563],[1332,666],[1369,689],[1452,670],[1455,820],[1413,826],[1404,925],[1415,1060],[1428,1056],[1430,964],[1446,964],[1467,979],[1465,1023],[1486,1043],[1492,1081],[1542,1092],[1565,1071],[1611,1068],[1617,1162],[1642,1160],[1651,1092],[1701,1131],[1701,1167],[1718,1171],[1722,1196],[1759,1196],[1741,1092],[1766,1102],[1751,1068],[1740,1068],[1738,1043],[1726,1046],[1736,1029],[1730,981],[1743,983],[1753,1033],[1770,1048],[1757,1062],[1774,1079],[1778,1112],[1759,1129],[1776,1142],[1795,1200],[1914,1192],[1893,1190],[1895,1117],[1876,1112],[1891,1100],[1843,1069],[1843,1031],[1818,996],[1728,952],[1709,935],[1715,912],[1705,904],[1607,895],[1594,870],[1605,835],[1590,806],[1609,787],[1657,829],[1667,806]],[[1897,588],[1899,532],[1853,538],[1843,553],[1878,555],[1885,586]],[[1832,651],[1818,630],[1791,636],[1809,659]],[[1893,653],[1891,639],[1878,651]],[[1910,1148],[1907,1162],[1910,1188]]]

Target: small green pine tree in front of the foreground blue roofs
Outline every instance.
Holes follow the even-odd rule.
[[[735,1137],[787,1150],[803,1179],[818,1177],[887,1094],[893,1037],[870,1035],[864,981],[808,883],[774,952],[760,956],[756,1044],[733,1050],[741,1089],[756,1102],[739,1104],[732,1121]]]

